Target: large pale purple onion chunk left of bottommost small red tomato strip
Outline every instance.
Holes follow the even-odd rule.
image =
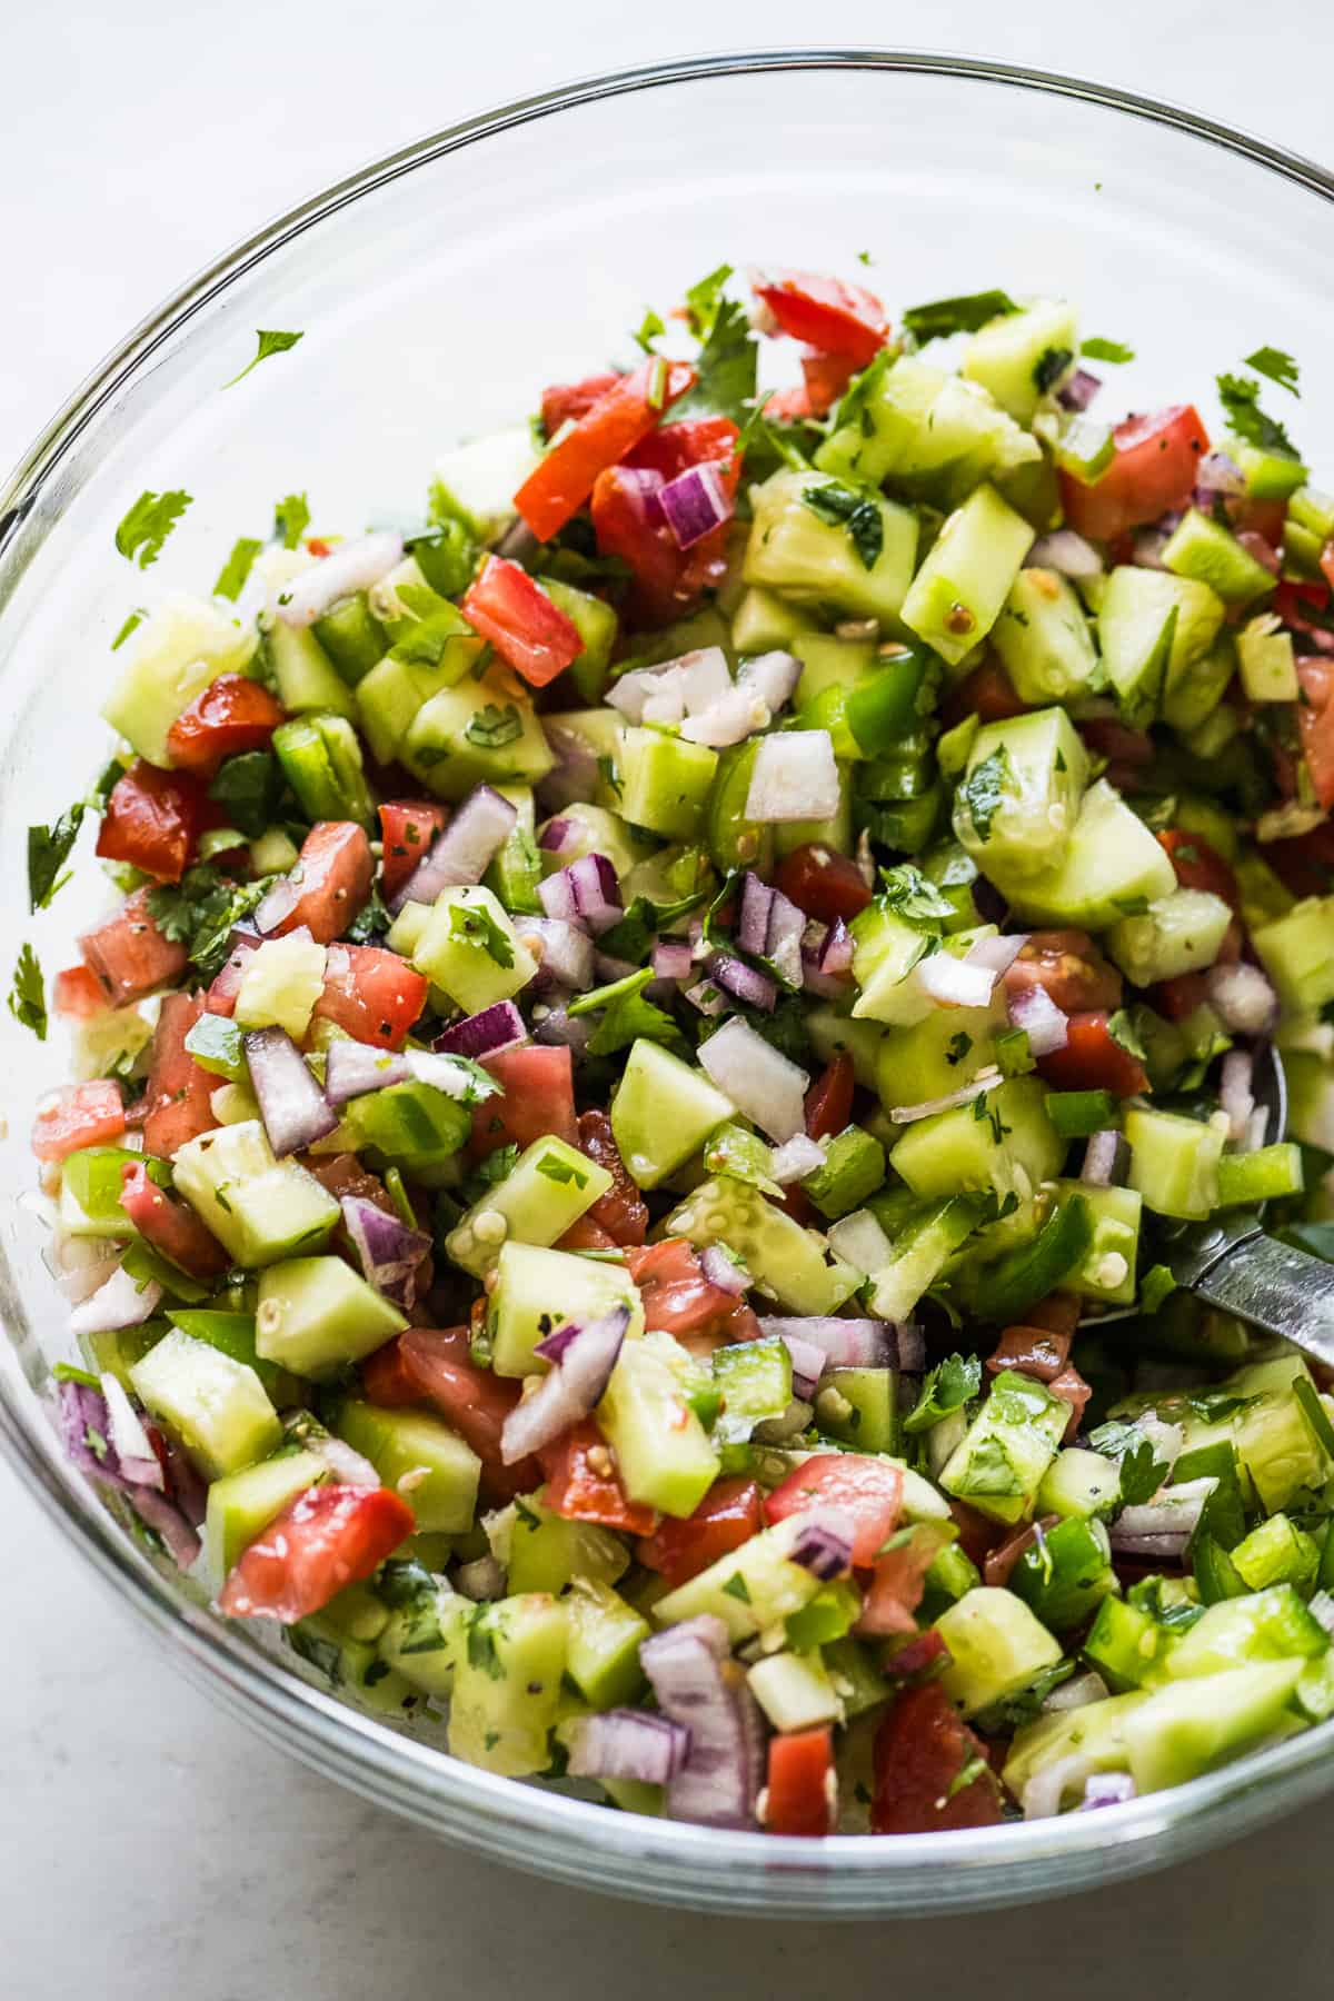
[[[760,1733],[722,1619],[702,1613],[654,1633],[640,1647],[640,1665],[664,1717],[690,1731],[686,1763],[668,1781],[668,1815],[704,1827],[754,1827]]]

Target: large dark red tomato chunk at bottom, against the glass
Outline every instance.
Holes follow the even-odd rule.
[[[960,1785],[986,1747],[962,1721],[938,1681],[904,1689],[876,1731],[876,1835],[934,1835],[958,1827],[996,1827],[1000,1791],[990,1767]]]

